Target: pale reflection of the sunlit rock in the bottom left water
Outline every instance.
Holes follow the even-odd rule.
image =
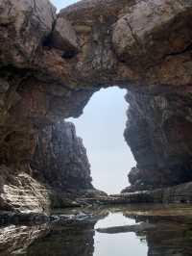
[[[47,232],[46,224],[2,227],[0,228],[0,255],[23,255],[31,243],[35,242],[37,238],[45,236]]]

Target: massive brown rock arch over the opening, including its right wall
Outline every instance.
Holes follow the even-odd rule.
[[[126,138],[139,183],[191,180],[191,15],[186,0],[84,0],[58,16],[48,0],[0,0],[0,164],[14,176],[32,163],[44,127],[120,86],[131,91]]]

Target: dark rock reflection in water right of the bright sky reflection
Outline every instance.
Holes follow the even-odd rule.
[[[138,232],[138,237],[145,237],[148,243],[148,256],[191,256],[192,225],[187,218],[137,218],[156,225],[156,229]]]

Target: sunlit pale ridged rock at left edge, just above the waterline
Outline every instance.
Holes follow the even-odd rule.
[[[15,173],[7,166],[0,166],[0,170],[1,210],[49,214],[50,199],[45,186],[24,171]]]

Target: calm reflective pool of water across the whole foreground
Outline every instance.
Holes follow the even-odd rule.
[[[192,255],[190,206],[105,208],[94,213],[98,219],[84,223],[1,227],[0,255]],[[115,234],[96,231],[97,228],[139,225],[143,222],[153,225],[153,228]]]

